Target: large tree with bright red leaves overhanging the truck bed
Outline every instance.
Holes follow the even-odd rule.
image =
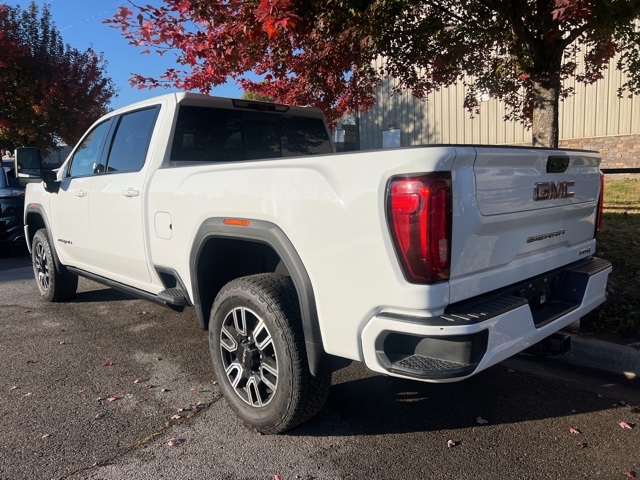
[[[208,92],[233,78],[277,102],[316,105],[330,124],[370,108],[387,76],[419,98],[463,81],[471,112],[488,93],[508,118],[532,127],[534,145],[555,147],[559,101],[572,94],[564,79],[593,83],[620,53],[624,91],[640,93],[640,0],[164,0],[135,8],[108,22],[147,53],[176,51],[183,68],[136,75],[134,84]],[[265,81],[244,78],[250,71]]]

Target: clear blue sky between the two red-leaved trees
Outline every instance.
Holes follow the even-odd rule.
[[[27,9],[31,1],[4,0],[3,3]],[[93,47],[96,52],[104,53],[108,64],[107,76],[111,77],[118,89],[118,97],[111,100],[111,108],[123,107],[129,103],[175,91],[163,88],[138,90],[129,86],[129,77],[132,73],[158,76],[166,68],[178,65],[169,54],[163,57],[154,53],[142,55],[140,52],[143,49],[129,45],[128,41],[121,36],[120,30],[102,23],[105,18],[112,17],[118,7],[126,5],[126,0],[36,0],[39,6],[45,3],[50,5],[51,17],[65,43],[78,50],[84,51]],[[142,3],[160,4],[161,2],[144,0]],[[211,95],[239,97],[242,91],[232,81],[216,87]]]

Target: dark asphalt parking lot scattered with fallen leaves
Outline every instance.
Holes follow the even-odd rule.
[[[430,385],[354,364],[334,374],[316,418],[259,435],[221,398],[191,310],[82,279],[73,301],[48,304],[27,257],[0,265],[2,479],[640,473],[637,384],[584,372],[544,378],[514,362]],[[538,368],[554,376],[553,364]]]

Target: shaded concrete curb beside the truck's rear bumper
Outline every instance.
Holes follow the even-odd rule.
[[[629,379],[640,378],[640,349],[603,342],[583,335],[571,335],[569,353],[554,359],[563,363],[624,375]]]

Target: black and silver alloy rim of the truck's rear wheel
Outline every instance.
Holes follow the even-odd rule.
[[[252,407],[268,405],[278,389],[278,357],[273,337],[253,310],[231,310],[220,330],[222,365],[229,384]]]

